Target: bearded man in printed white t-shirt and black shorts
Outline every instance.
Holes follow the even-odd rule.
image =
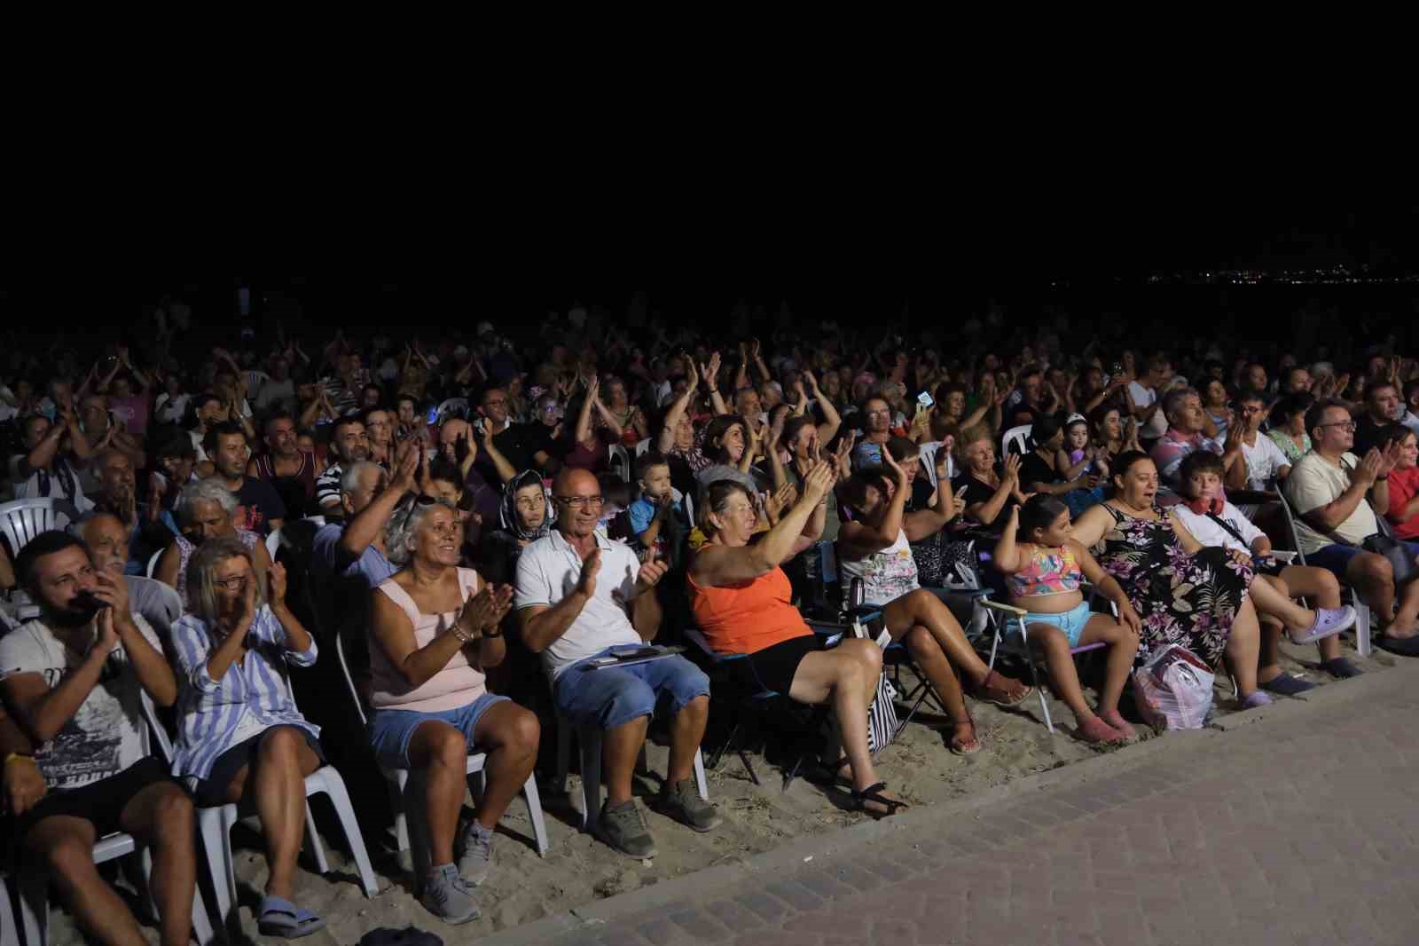
[[[105,943],[143,946],[138,920],[94,865],[94,841],[132,834],[153,857],[150,888],[163,946],[192,936],[197,865],[193,807],[145,753],[140,690],[159,706],[177,680],[148,622],[129,612],[121,577],[95,571],[79,540],[41,533],[16,561],[41,614],[0,638],[0,693],[47,794],[14,818],[21,861],[43,865],[78,925]]]

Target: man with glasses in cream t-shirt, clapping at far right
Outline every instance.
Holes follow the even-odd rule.
[[[1296,541],[1305,564],[1330,570],[1359,592],[1375,612],[1381,635],[1375,643],[1392,653],[1419,656],[1419,581],[1398,591],[1389,560],[1366,553],[1361,543],[1379,531],[1375,510],[1389,509],[1391,470],[1401,446],[1385,453],[1371,447],[1364,459],[1351,453],[1355,422],[1338,401],[1320,401],[1305,412],[1311,452],[1297,460],[1286,477],[1286,496],[1296,510]],[[1366,497],[1369,501],[1366,503]],[[1405,543],[1410,557],[1419,544]]]

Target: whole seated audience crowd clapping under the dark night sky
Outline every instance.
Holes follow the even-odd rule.
[[[175,305],[92,366],[13,354],[0,384],[6,489],[65,520],[0,544],[3,830],[106,943],[143,940],[94,841],[152,848],[177,946],[193,807],[226,803],[260,815],[260,930],[321,929],[292,875],[304,778],[331,761],[420,776],[420,899],[471,920],[553,720],[602,733],[597,837],[654,857],[663,822],[633,797],[651,720],[670,743],[653,808],[714,831],[692,770],[721,686],[826,707],[830,777],[890,817],[883,648],[810,621],[880,612],[945,749],[989,751],[971,700],[1032,690],[978,653],[969,605],[941,594],[964,581],[1025,612],[1094,744],[1137,739],[1130,673],[1169,645],[1225,666],[1242,709],[1314,686],[1281,669],[1283,636],[1358,675],[1340,643],[1358,607],[1378,646],[1419,655],[1419,365],[1392,344],[1337,365],[1202,339],[1069,351],[995,322],[964,349],[834,324],[761,342],[576,308],[517,339],[482,322],[307,348],[237,325],[210,347],[190,324]],[[687,628],[707,653],[641,655]],[[1095,643],[1090,706],[1071,651]],[[297,706],[332,665],[363,733]],[[142,699],[172,759],[148,751]],[[460,822],[473,751],[485,783]]]

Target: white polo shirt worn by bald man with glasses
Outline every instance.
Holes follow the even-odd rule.
[[[542,669],[556,678],[572,663],[593,653],[622,645],[644,643],[630,622],[627,608],[636,595],[640,560],[630,545],[596,535],[602,548],[602,568],[596,572],[596,591],[561,638],[542,651]],[[582,557],[552,530],[518,555],[517,597],[521,611],[536,605],[555,605],[576,588],[582,578]]]

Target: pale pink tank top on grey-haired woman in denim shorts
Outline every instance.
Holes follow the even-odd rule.
[[[464,601],[478,594],[478,572],[473,568],[460,568],[458,585],[463,588]],[[409,615],[409,622],[414,625],[417,648],[426,646],[458,619],[457,611],[420,614],[414,599],[393,578],[379,585],[379,591]],[[482,670],[468,663],[463,649],[453,655],[444,669],[414,687],[404,682],[403,675],[390,665],[389,658],[375,642],[370,642],[369,648],[369,669],[372,678],[369,702],[376,709],[438,713],[467,706],[487,692]]]

